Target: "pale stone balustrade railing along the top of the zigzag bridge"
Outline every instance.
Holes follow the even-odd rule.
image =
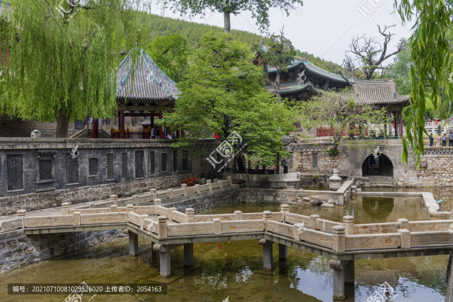
[[[159,238],[174,238],[199,235],[222,235],[240,233],[276,234],[324,248],[333,252],[368,249],[410,249],[433,245],[453,245],[453,234],[449,231],[453,220],[408,221],[399,219],[396,223],[354,224],[352,216],[344,216],[343,223],[321,219],[319,215],[304,216],[289,212],[288,205],[281,205],[280,212],[242,213],[218,215],[194,215],[194,210],[186,213],[176,208],[161,206],[156,199],[154,206],[124,207],[112,205],[105,213],[90,213],[96,209],[82,209],[72,214],[67,204],[63,205],[63,215],[27,217],[25,210],[17,213],[17,218],[3,221],[0,231],[6,232],[21,228],[43,228],[62,226],[85,226],[112,223],[130,223],[156,234]],[[154,216],[151,219],[150,216]],[[156,221],[158,216],[158,221]]]

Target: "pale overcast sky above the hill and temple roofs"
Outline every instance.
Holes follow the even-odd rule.
[[[352,37],[368,34],[383,41],[384,37],[379,34],[378,25],[383,29],[384,25],[396,24],[396,27],[390,29],[391,33],[396,34],[389,43],[390,53],[395,51],[401,38],[411,36],[412,27],[412,24],[403,27],[399,15],[391,14],[394,11],[393,4],[393,0],[305,0],[304,5],[299,7],[299,12],[291,12],[289,17],[277,9],[270,10],[269,32],[278,33],[284,25],[285,36],[292,41],[295,48],[341,64],[344,51]],[[223,14],[209,10],[206,10],[203,18],[198,16],[192,20],[172,14],[168,10],[163,16],[223,27]],[[250,12],[231,15],[232,29],[262,35],[255,23]],[[389,59],[385,65],[391,62],[393,60]]]

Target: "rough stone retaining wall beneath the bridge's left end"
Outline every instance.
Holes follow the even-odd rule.
[[[0,234],[0,273],[125,237],[122,230],[25,235],[24,230]]]

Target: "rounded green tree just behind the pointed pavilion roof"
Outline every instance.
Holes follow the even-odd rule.
[[[178,34],[157,36],[149,45],[149,56],[172,80],[181,81],[186,65],[188,47],[186,39]]]

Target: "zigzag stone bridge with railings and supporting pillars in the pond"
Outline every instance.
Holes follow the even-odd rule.
[[[354,224],[354,217],[345,216],[340,223],[290,213],[288,205],[281,205],[280,212],[195,215],[192,208],[182,213],[163,207],[156,198],[150,206],[69,210],[64,204],[60,215],[27,217],[21,210],[17,216],[3,221],[0,231],[24,229],[33,235],[127,229],[130,255],[138,254],[139,236],[153,242],[162,278],[171,276],[170,251],[181,245],[184,265],[192,266],[193,243],[256,239],[263,245],[266,270],[273,269],[273,244],[282,261],[289,246],[332,259],[334,299],[343,299],[344,284],[354,283],[354,260],[446,255],[453,249],[453,220]]]

